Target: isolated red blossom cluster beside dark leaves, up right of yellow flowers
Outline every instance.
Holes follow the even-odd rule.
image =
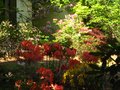
[[[88,62],[97,62],[98,58],[91,55],[90,52],[84,52],[82,55],[83,59],[85,59]]]

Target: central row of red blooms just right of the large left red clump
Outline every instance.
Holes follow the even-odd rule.
[[[48,56],[53,56],[57,59],[66,59],[66,57],[74,57],[76,55],[76,49],[74,48],[65,48],[59,43],[43,44],[44,53]]]

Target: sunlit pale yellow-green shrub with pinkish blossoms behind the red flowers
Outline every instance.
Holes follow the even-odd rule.
[[[54,23],[59,27],[57,32],[53,34],[53,36],[55,36],[55,40],[53,40],[54,42],[60,42],[66,47],[76,48],[78,55],[80,55],[84,50],[93,50],[93,47],[96,44],[93,43],[94,46],[92,44],[85,44],[85,41],[93,37],[85,33],[81,33],[82,28],[87,30],[88,28],[85,27],[78,15],[69,14],[65,16],[65,19],[54,19]],[[96,41],[96,39],[94,38],[92,42],[93,41]]]

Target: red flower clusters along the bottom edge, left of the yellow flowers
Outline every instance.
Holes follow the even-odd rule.
[[[39,74],[39,81],[27,80],[25,83],[22,80],[18,80],[15,82],[17,89],[24,90],[24,87],[27,86],[29,90],[63,90],[62,85],[53,84],[54,74],[51,69],[41,67],[36,70],[36,73]]]

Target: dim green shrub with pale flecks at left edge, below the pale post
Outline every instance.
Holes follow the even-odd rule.
[[[33,28],[29,24],[20,24],[18,27],[13,26],[9,21],[2,21],[0,24],[0,56],[14,54],[19,42],[22,40],[31,40],[34,43],[45,43],[49,37],[42,32]]]

